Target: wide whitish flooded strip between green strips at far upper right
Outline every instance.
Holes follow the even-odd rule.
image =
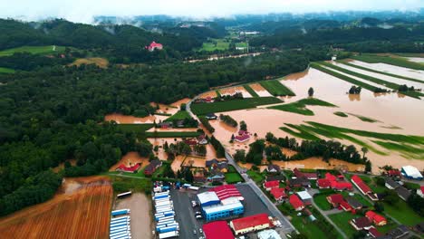
[[[413,69],[385,64],[385,63],[367,63],[367,62],[360,62],[360,61],[352,61],[350,63],[360,65],[366,68],[371,68],[373,70],[380,71],[380,72],[388,72],[392,74],[415,78],[418,80],[424,80],[424,71],[413,70]]]

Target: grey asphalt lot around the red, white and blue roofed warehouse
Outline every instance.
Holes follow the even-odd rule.
[[[245,197],[245,214],[256,215],[266,213],[272,215],[261,199],[255,194],[253,189],[248,185],[236,185],[236,188],[240,191],[242,196]],[[171,189],[170,196],[174,201],[174,210],[176,213],[176,220],[179,224],[179,238],[197,239],[203,234],[200,234],[199,228],[206,222],[201,219],[198,220],[195,217],[195,211],[200,211],[200,207],[192,207],[191,201],[196,200],[196,195],[201,192],[207,191],[207,188],[201,188],[198,192],[191,191],[188,189],[175,190]],[[274,216],[274,215],[272,215]],[[223,218],[232,219],[232,218]],[[228,220],[227,220],[228,221]],[[194,234],[196,231],[196,234]],[[249,238],[255,238],[255,235]]]

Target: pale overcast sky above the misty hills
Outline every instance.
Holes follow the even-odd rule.
[[[91,23],[95,15],[184,15],[305,13],[345,10],[417,10],[424,0],[0,0],[0,17],[39,20],[62,17]]]

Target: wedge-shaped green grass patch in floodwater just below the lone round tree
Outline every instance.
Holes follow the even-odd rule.
[[[314,115],[312,110],[306,109],[306,105],[335,107],[335,105],[329,102],[325,102],[323,100],[318,100],[315,98],[308,98],[308,99],[299,100],[289,104],[275,105],[272,107],[268,107],[268,109],[283,110],[283,111],[292,112],[296,114],[302,114],[302,115]]]

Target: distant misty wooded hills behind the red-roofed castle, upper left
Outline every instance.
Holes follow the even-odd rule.
[[[224,32],[223,32],[224,31]],[[74,24],[65,20],[23,23],[0,19],[0,50],[23,45],[63,45],[90,50],[123,62],[146,62],[144,46],[152,41],[162,43],[163,57],[180,58],[200,47],[207,37],[219,37],[225,29],[217,24],[186,28],[164,27],[162,33],[152,33],[132,25]]]

